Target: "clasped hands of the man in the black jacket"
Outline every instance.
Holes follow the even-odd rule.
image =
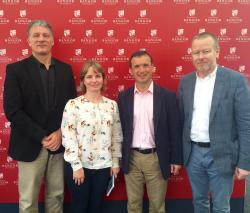
[[[52,132],[49,136],[45,137],[42,140],[42,145],[45,149],[50,151],[56,151],[59,149],[62,143],[62,133],[61,129],[58,129],[55,132]]]

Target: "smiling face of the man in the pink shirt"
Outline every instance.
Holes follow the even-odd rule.
[[[137,84],[145,85],[151,83],[154,71],[155,67],[148,55],[132,58],[129,72],[133,75]]]

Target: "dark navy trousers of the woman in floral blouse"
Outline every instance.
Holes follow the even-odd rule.
[[[76,185],[69,163],[65,163],[65,180],[72,195],[71,213],[101,213],[103,197],[110,178],[110,168],[84,168],[84,183]]]

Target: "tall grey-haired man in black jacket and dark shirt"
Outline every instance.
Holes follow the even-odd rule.
[[[51,26],[35,20],[28,27],[29,58],[9,64],[4,111],[11,122],[9,155],[18,161],[19,212],[38,212],[45,182],[45,211],[63,212],[61,119],[68,99],[76,96],[71,67],[51,56]]]

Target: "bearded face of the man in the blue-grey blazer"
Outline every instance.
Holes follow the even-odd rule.
[[[214,46],[214,41],[211,37],[193,41],[192,60],[198,74],[201,73],[206,76],[213,72],[218,57],[219,50]]]

